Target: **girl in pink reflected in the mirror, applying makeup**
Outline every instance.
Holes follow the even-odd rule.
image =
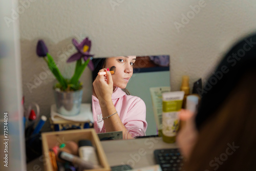
[[[122,131],[137,127],[146,131],[144,101],[125,90],[133,75],[136,56],[93,59],[92,110],[97,133]],[[113,67],[114,66],[114,67]],[[114,69],[111,74],[110,69]],[[105,72],[103,75],[98,73]]]

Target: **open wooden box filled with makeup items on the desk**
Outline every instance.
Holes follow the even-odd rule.
[[[94,129],[42,133],[45,170],[105,170],[111,168]]]

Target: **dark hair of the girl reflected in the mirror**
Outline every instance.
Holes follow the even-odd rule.
[[[106,58],[93,58],[92,61],[94,66],[94,71],[92,72],[92,81],[94,81],[98,75],[99,70],[104,68],[106,64]],[[125,92],[125,94],[130,95],[130,92],[127,89],[122,89],[122,91]]]

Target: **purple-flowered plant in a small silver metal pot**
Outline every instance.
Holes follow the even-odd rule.
[[[75,72],[70,79],[64,78],[61,75],[53,57],[48,53],[48,48],[43,40],[38,40],[36,47],[36,54],[46,61],[50,71],[57,80],[57,83],[53,87],[57,113],[67,116],[80,113],[82,83],[79,81],[79,78],[87,65],[92,71],[94,70],[91,61],[93,55],[90,54],[91,40],[87,37],[80,44],[75,39],[72,42],[77,49],[77,53],[73,54],[67,60],[67,62],[76,61]]]

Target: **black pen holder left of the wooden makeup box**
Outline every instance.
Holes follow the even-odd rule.
[[[26,161],[30,161],[38,158],[42,155],[42,140],[41,133],[31,135],[26,139]]]

